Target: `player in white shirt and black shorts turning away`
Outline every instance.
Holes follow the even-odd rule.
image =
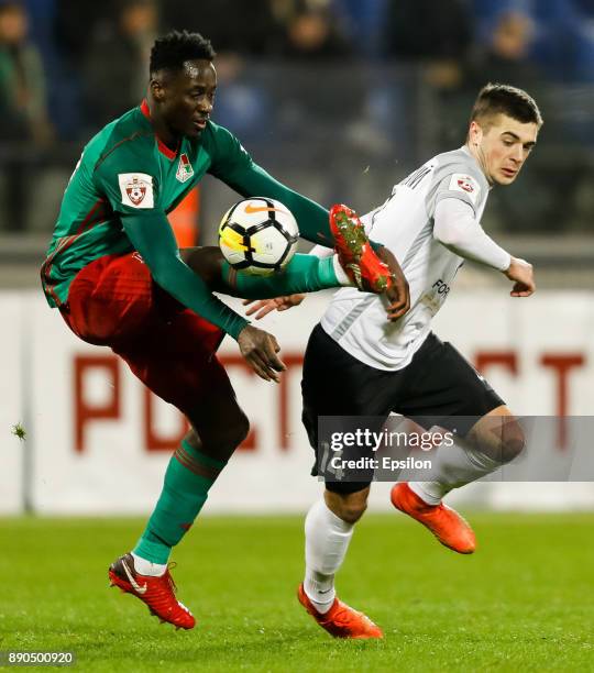
[[[484,87],[465,144],[428,161],[396,185],[383,206],[362,218],[367,233],[400,262],[410,310],[388,322],[382,297],[341,289],[314,329],[305,356],[304,423],[317,454],[324,439],[318,437],[318,419],[324,416],[387,418],[396,412],[424,417],[427,429],[455,427],[460,441],[438,448],[429,479],[396,484],[392,501],[460,553],[474,551],[474,533],[442,504],[443,496],[516,457],[524,434],[491,386],[431,332],[431,320],[464,260],[507,276],[514,284],[512,297],[535,291],[531,265],[497,245],[480,222],[490,189],[516,179],[541,125],[540,111],[525,91]],[[278,299],[274,308],[297,301]],[[267,310],[272,308],[268,304]],[[358,450],[349,457],[373,456],[372,449]],[[381,638],[382,630],[334,592],[334,575],[366,508],[373,471],[363,475],[366,481],[361,481],[361,471],[358,481],[344,474],[337,481],[328,464],[318,460],[314,471],[324,477],[326,492],[306,517],[306,574],[298,597],[336,637]]]

